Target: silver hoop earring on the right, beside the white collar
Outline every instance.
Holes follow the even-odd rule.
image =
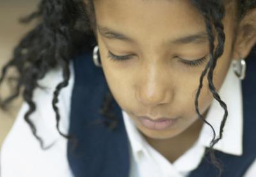
[[[244,59],[234,60],[232,63],[234,73],[240,80],[244,80],[246,75],[246,62]]]

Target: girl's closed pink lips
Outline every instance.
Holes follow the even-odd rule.
[[[137,116],[137,118],[140,121],[141,125],[151,130],[166,130],[172,127],[173,125],[175,125],[175,123],[177,122],[177,118],[152,119],[147,116],[142,116],[142,117]]]

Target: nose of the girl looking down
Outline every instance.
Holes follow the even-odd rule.
[[[147,107],[160,104],[170,104],[173,99],[173,89],[170,83],[170,75],[164,75],[157,70],[142,73],[140,84],[136,86],[136,99]]]

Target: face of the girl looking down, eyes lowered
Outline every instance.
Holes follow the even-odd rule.
[[[168,139],[186,130],[198,119],[195,94],[209,60],[204,18],[186,0],[96,0],[94,6],[102,68],[116,102],[147,137]],[[232,58],[234,17],[227,13],[224,20],[225,52],[214,71],[217,90]],[[212,99],[204,79],[200,112]],[[138,116],[174,120],[166,127]]]

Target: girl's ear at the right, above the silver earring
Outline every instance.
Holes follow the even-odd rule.
[[[256,8],[244,15],[237,25],[233,59],[246,59],[256,43]]]

